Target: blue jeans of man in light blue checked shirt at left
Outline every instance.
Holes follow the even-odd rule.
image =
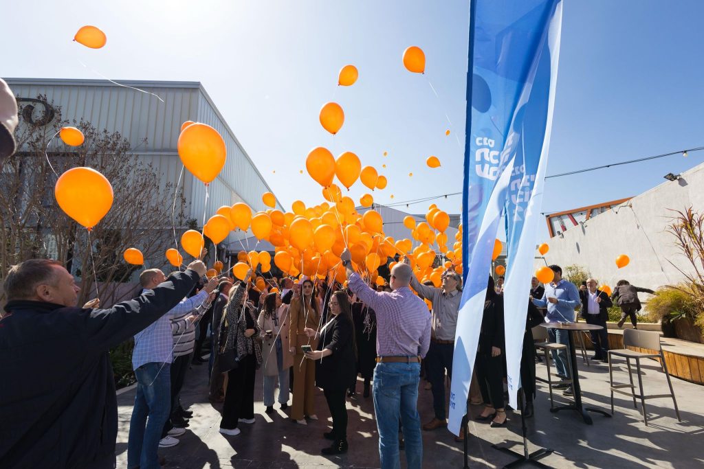
[[[170,372],[170,364],[156,362],[134,370],[137,395],[134,397],[130,436],[127,439],[127,468],[161,468],[156,451],[171,411]]]

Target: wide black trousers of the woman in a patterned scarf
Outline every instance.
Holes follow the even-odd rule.
[[[256,365],[253,355],[239,361],[239,366],[227,372],[227,392],[222,407],[220,428],[237,428],[240,418],[254,418],[254,378]]]

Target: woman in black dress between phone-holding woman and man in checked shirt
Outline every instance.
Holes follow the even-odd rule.
[[[357,342],[357,373],[364,380],[364,397],[369,397],[370,380],[374,377],[377,366],[377,315],[363,302],[352,304],[352,319]],[[348,396],[355,392],[357,375],[355,374]]]

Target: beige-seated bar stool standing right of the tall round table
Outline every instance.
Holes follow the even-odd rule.
[[[636,397],[641,399],[641,405],[643,406],[643,423],[648,425],[648,414],[646,413],[646,399],[655,399],[658,397],[672,397],[672,402],[674,404],[674,413],[677,414],[677,420],[682,421],[679,418],[679,409],[677,408],[677,399],[674,398],[674,390],[672,389],[672,381],[670,380],[670,373],[667,372],[667,363],[665,363],[665,355],[662,353],[662,345],[660,345],[660,334],[654,330],[638,330],[638,329],[625,329],[623,331],[623,345],[624,349],[609,350],[609,381],[611,386],[611,415],[614,413],[614,392],[619,394],[625,394],[633,398],[633,406],[638,409],[638,404],[636,404]],[[640,349],[650,349],[658,350],[656,354],[646,354],[643,352],[636,352],[636,350],[631,350],[628,347],[636,347]],[[620,356],[626,359],[626,364],[628,366],[628,377],[631,384],[615,385],[613,378],[613,360],[612,357]],[[641,359],[660,359],[660,366],[662,371],[665,371],[665,378],[667,378],[667,385],[670,387],[670,394],[653,394],[651,396],[646,396],[643,394],[643,378],[641,378]],[[631,359],[636,361],[636,373],[638,374],[638,386],[640,393],[636,394],[636,386],[633,384],[633,371],[631,370]],[[629,388],[629,391],[622,391],[623,388]]]

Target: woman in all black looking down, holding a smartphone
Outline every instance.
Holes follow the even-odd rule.
[[[357,354],[352,311],[346,293],[337,291],[329,302],[330,319],[316,331],[306,328],[306,335],[320,340],[318,349],[306,352],[306,359],[317,360],[315,383],[322,388],[332,416],[332,431],[323,436],[332,439],[332,446],[322,454],[347,452],[347,409],[345,393],[356,374]]]

